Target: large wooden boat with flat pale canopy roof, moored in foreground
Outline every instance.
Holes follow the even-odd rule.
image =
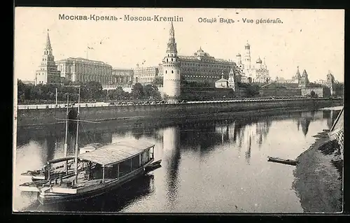
[[[142,141],[121,141],[79,154],[78,161],[83,164],[82,167],[95,166],[79,169],[76,175],[52,179],[38,187],[38,201],[41,204],[76,201],[119,187],[147,173],[145,168],[154,161],[154,146]]]

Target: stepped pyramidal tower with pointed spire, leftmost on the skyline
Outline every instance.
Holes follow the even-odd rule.
[[[57,71],[55,57],[52,55],[50,36],[46,37],[46,44],[41,57],[41,64],[35,74],[35,85],[60,84],[60,71]]]

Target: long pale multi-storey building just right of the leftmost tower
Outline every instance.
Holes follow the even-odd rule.
[[[109,85],[117,81],[117,77],[112,75],[112,66],[104,62],[69,57],[57,61],[56,64],[61,77],[72,82],[97,81],[102,85]]]

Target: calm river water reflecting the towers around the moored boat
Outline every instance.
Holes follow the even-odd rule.
[[[13,206],[15,210],[49,212],[302,213],[292,189],[295,166],[268,162],[267,156],[295,159],[314,143],[315,134],[330,129],[339,110],[90,129],[81,134],[80,146],[137,138],[155,144],[155,160],[162,159],[162,167],[122,189],[64,206],[40,206],[35,194],[25,194],[17,187],[22,182],[20,173],[63,156],[64,136],[34,137],[35,132],[18,129]],[[73,154],[75,139],[69,135],[69,154]]]

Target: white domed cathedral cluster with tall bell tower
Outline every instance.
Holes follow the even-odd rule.
[[[244,45],[244,50],[245,55],[243,61],[240,53],[236,55],[237,67],[241,73],[240,82],[270,82],[271,77],[269,76],[269,70],[267,69],[265,59],[262,64],[262,60],[258,57],[255,65],[253,65],[251,63],[251,45],[248,42]]]

